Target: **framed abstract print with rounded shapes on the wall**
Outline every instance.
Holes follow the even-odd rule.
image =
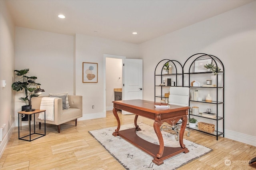
[[[98,63],[83,62],[83,83],[98,83]]]

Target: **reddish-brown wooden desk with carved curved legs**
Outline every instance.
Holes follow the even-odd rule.
[[[128,142],[134,144],[144,152],[150,154],[154,157],[152,162],[157,165],[164,163],[164,160],[170,158],[181,152],[188,153],[188,148],[183,144],[183,134],[187,124],[188,109],[190,107],[183,107],[178,105],[170,105],[170,108],[155,108],[153,101],[145,100],[126,100],[126,101],[113,101],[114,109],[113,114],[116,117],[118,123],[117,129],[113,132],[113,136],[121,136]],[[131,128],[127,130],[120,130],[120,119],[118,117],[117,111],[124,110],[135,114],[134,125],[136,128]],[[137,136],[136,131],[141,130],[137,125],[138,116],[143,116],[148,119],[154,120],[154,130],[159,140],[159,145],[150,143],[139,136]],[[182,119],[182,125],[180,129],[180,147],[166,147],[164,146],[164,140],[160,127],[164,122],[174,126],[180,119]]]

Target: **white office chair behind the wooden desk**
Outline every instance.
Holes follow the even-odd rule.
[[[189,105],[189,88],[188,87],[170,87],[170,95],[169,95],[169,104],[170,105],[179,105],[179,106],[188,106]],[[160,130],[164,129],[172,129],[176,132],[176,140],[179,140],[178,129],[180,129],[179,124],[182,121],[179,120],[178,123],[174,127],[170,127],[168,125],[163,125]],[[190,131],[188,131],[187,136],[190,136]]]

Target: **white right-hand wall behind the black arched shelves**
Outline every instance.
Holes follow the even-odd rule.
[[[140,45],[144,96],[154,101],[154,68],[161,59],[182,64],[195,53],[220,58],[225,67],[225,132],[256,146],[256,2]],[[145,86],[146,85],[146,86]],[[248,140],[248,141],[245,141]]]

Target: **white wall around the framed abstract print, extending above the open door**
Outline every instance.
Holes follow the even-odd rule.
[[[76,95],[83,96],[82,119],[104,117],[103,108],[103,55],[121,55],[140,58],[136,44],[76,34]],[[82,83],[82,63],[98,63],[98,83]],[[92,109],[94,105],[94,109]]]

